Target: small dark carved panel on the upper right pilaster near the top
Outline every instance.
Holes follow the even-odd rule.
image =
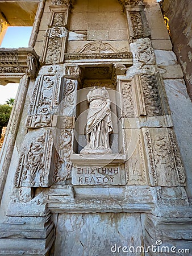
[[[130,12],[132,30],[133,30],[133,38],[139,39],[145,37],[145,31],[143,26],[143,20],[141,18],[140,11],[131,11]]]

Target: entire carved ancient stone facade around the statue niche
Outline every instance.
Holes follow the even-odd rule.
[[[0,255],[189,254],[191,102],[158,3],[39,1],[30,47]]]

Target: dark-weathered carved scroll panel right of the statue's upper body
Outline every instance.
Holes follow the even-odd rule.
[[[147,115],[162,115],[161,99],[155,76],[142,75],[141,85],[143,87],[145,109]]]

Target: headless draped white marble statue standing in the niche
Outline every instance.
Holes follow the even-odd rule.
[[[89,110],[86,123],[87,145],[81,153],[111,153],[109,134],[112,132],[111,101],[105,87],[94,87],[87,94]]]

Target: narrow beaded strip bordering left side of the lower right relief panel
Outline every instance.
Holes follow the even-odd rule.
[[[153,177],[152,184],[154,183],[154,185],[157,185],[157,174],[156,174],[155,163],[153,159],[152,142],[151,142],[151,137],[148,129],[145,130],[145,138],[147,142],[148,158],[149,158],[149,164],[151,167],[151,175]]]

